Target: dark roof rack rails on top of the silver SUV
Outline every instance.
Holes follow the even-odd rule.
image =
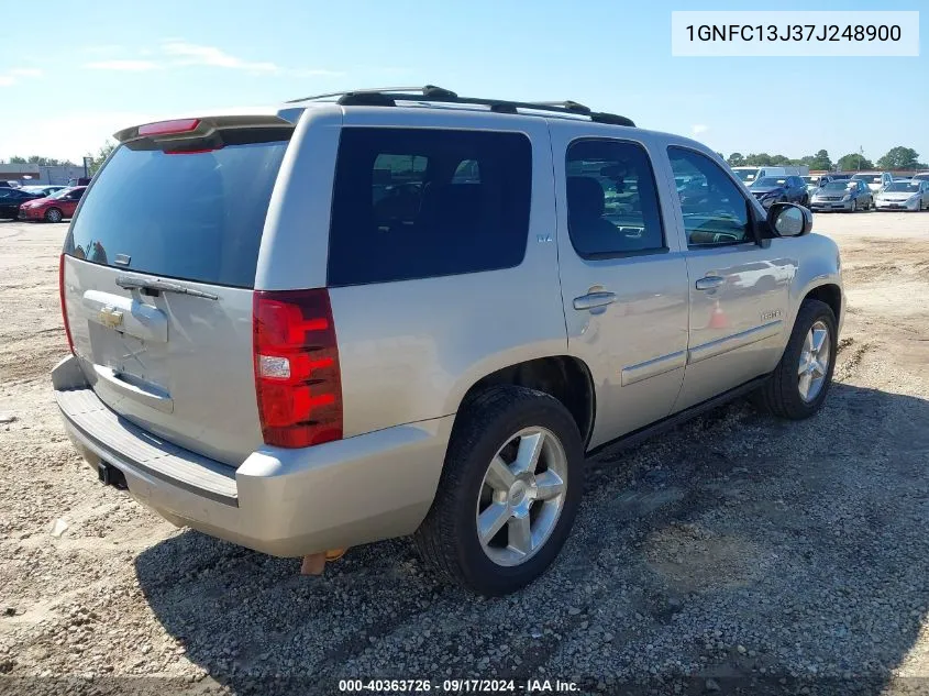
[[[383,87],[374,89],[354,89],[344,92],[329,92],[291,99],[287,103],[300,101],[312,101],[314,99],[327,99],[338,97],[338,103],[342,106],[364,107],[395,107],[397,101],[432,101],[436,103],[476,104],[489,107],[496,113],[519,113],[519,109],[530,111],[548,111],[551,113],[564,113],[569,115],[585,115],[596,123],[610,123],[612,125],[634,126],[631,119],[616,113],[605,111],[591,111],[576,101],[509,101],[505,99],[483,99],[476,97],[458,97],[450,89],[443,89],[435,85],[423,87]]]

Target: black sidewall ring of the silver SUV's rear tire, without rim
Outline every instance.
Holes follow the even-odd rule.
[[[494,563],[480,546],[476,521],[477,499],[494,455],[517,432],[531,427],[542,427],[551,431],[564,448],[567,459],[566,499],[555,522],[555,529],[542,549],[524,563],[501,566]],[[486,427],[476,445],[465,453],[465,461],[452,465],[464,467],[462,495],[456,499],[453,519],[458,537],[458,564],[467,583],[483,594],[502,595],[535,579],[561,551],[574,523],[583,494],[584,448],[571,413],[560,401],[543,394],[538,398],[516,400]]]

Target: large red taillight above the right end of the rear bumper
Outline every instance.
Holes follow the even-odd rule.
[[[267,444],[342,439],[342,376],[325,289],[256,290],[255,391]]]

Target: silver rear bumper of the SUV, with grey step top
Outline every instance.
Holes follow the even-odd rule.
[[[119,468],[130,494],[175,524],[278,556],[412,533],[432,505],[454,419],[302,450],[266,446],[233,469],[119,417],[74,357],[52,380],[68,437],[95,469]]]

